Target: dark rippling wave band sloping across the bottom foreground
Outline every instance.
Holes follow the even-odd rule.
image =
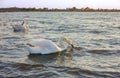
[[[24,64],[15,62],[0,62],[0,77],[14,78],[119,78],[120,72],[100,72],[84,68],[63,66],[45,66],[43,64]]]

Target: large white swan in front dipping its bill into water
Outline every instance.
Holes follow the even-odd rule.
[[[61,38],[59,42],[61,44],[66,42],[68,45],[62,44],[62,47],[59,47],[51,40],[33,39],[28,43],[27,48],[30,54],[51,54],[66,50],[69,45],[73,47],[72,41],[67,38]]]

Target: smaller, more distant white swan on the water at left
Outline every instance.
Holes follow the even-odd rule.
[[[21,25],[15,25],[13,27],[14,32],[19,32],[19,31],[28,31],[29,28],[26,26],[25,22],[23,21],[23,23]]]

